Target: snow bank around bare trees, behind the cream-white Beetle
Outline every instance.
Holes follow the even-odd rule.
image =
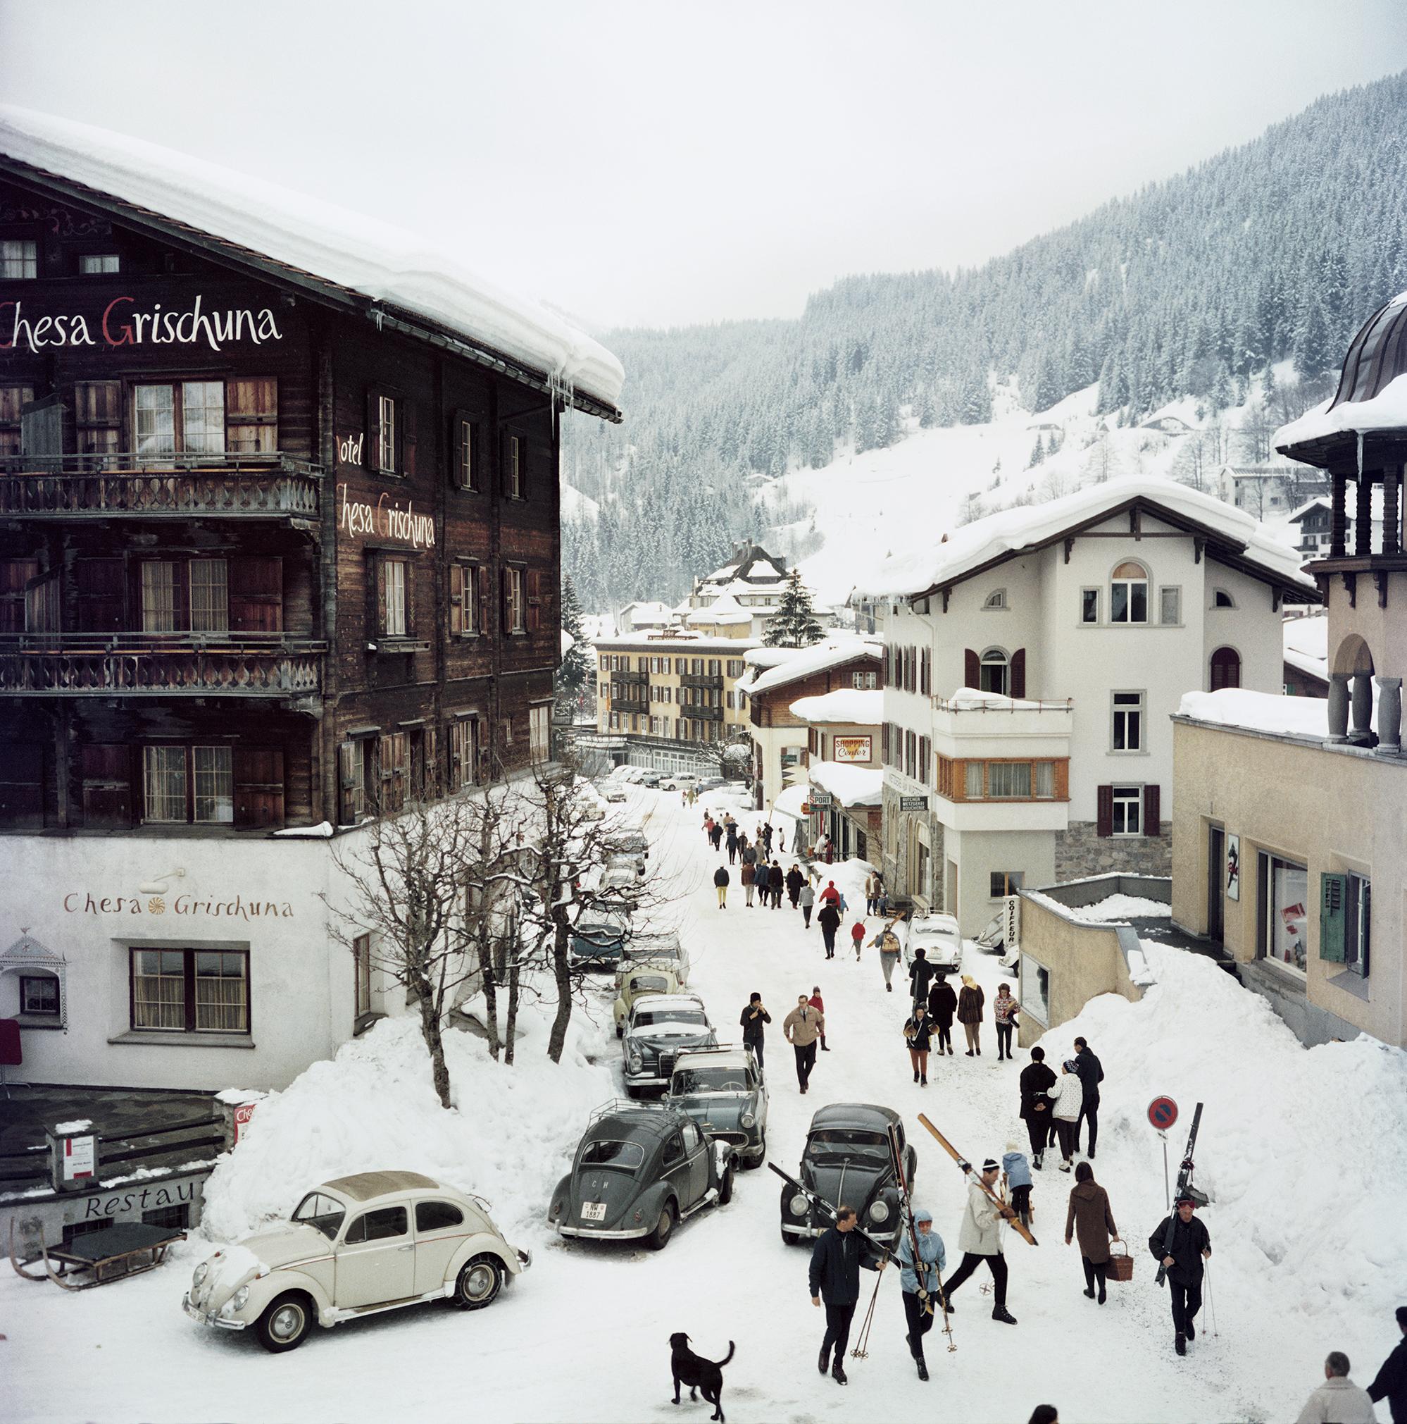
[[[524,1017],[551,1007],[524,1005]],[[580,1008],[561,1065],[536,1025],[509,1068],[467,1032],[445,1034],[457,1111],[440,1106],[413,1018],[387,1018],[333,1059],[313,1064],[253,1115],[205,1185],[202,1230],[233,1240],[286,1218],[320,1182],[353,1172],[424,1172],[489,1199],[509,1240],[546,1233],[552,1188],[568,1171],[593,1106],[615,1096],[598,1062],[606,1037]],[[516,1242],[515,1242],[516,1245]]]

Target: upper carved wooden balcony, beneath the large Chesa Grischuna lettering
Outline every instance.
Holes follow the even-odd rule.
[[[322,467],[285,454],[65,454],[0,460],[0,517],[248,518],[313,524]]]

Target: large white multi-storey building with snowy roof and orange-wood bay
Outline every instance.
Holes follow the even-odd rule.
[[[975,934],[1021,884],[1168,874],[1168,718],[1189,689],[1278,691],[1282,602],[1317,591],[1249,515],[1122,478],[895,555],[859,597],[891,893]]]

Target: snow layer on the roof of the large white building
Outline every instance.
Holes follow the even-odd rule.
[[[1147,476],[1090,484],[1047,504],[1021,506],[973,520],[953,530],[940,544],[929,543],[922,550],[891,555],[856,587],[879,598],[923,594],[1006,557],[1054,543],[1132,500],[1144,500],[1174,520],[1214,533],[1218,541],[1231,545],[1241,560],[1275,582],[1317,591],[1315,581],[1300,572],[1295,551],[1272,538],[1249,514],[1185,484]]]

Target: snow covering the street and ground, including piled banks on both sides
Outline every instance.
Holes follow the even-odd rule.
[[[966,1199],[953,1162],[918,1125],[926,1112],[970,1158],[1024,1143],[1017,1072],[999,1062],[990,1024],[984,1052],[933,1059],[930,1085],[910,1081],[901,1037],[905,997],[886,994],[878,956],[821,954],[819,933],[782,909],[714,903],[717,856],[701,830],[706,809],[736,807],[707,793],[629,787],[653,853],[680,891],[671,913],[700,993],[733,1037],[750,991],[772,1014],[767,1062],[768,1156],[795,1168],[811,1114],[828,1102],[899,1109],[918,1149],[918,1203],[929,1208],[950,1266]],[[753,829],[753,816],[743,824]],[[784,817],[777,816],[778,822]],[[790,837],[788,837],[790,843]],[[794,857],[778,856],[784,864]],[[864,906],[864,864],[822,867]],[[871,921],[871,931],[876,927]],[[842,937],[844,943],[844,937]],[[670,1420],[704,1424],[708,1405],[670,1403],[667,1336],[684,1330],[713,1358],[737,1341],[724,1371],[733,1424],[935,1417],[1012,1424],[1051,1401],[1068,1420],[1293,1418],[1322,1380],[1322,1360],[1344,1350],[1361,1378],[1398,1331],[1391,1307],[1407,1280],[1400,1212],[1407,1179],[1407,1054],[1367,1038],[1303,1049],[1263,1000],[1209,960],[1152,941],[1144,953],[1158,983],[1138,1004],[1103,995],[1046,1035],[1047,1054],[1083,1034],[1104,1062],[1098,1180],[1135,1255],[1134,1280],[1113,1284],[1104,1307],[1081,1294],[1074,1247],[1063,1243],[1071,1180],[1051,1166],[1036,1176],[1040,1246],[1009,1239],[1009,1306],[1020,1324],[990,1319],[980,1277],[957,1293],[955,1354],[930,1336],[930,1384],[915,1377],[903,1344],[898,1280],[879,1282],[869,1357],[852,1360],[838,1388],[815,1371],[824,1321],[807,1296],[807,1253],[778,1233],[780,1186],[743,1173],[733,1202],[687,1222],[660,1255],[563,1245],[543,1220],[548,1192],[566,1169],[588,1109],[617,1091],[619,1049],[609,1030],[583,1025],[572,1062],[542,1058],[536,1030],[512,1069],[488,1062],[477,1041],[451,1034],[458,1111],[434,1106],[413,1030],[383,1024],[260,1104],[253,1131],[212,1182],[211,1229],[242,1229],[290,1209],[309,1180],[363,1166],[418,1168],[482,1192],[533,1265],[489,1310],[445,1304],[317,1330],[287,1356],[255,1340],[202,1330],[181,1313],[195,1262],[192,1240],[166,1266],[78,1294],[14,1276],[0,1283],[7,1420],[368,1421]],[[1006,975],[967,947],[965,971],[992,995]],[[819,985],[828,1044],[807,1098],[797,1092],[780,1021],[800,993]],[[605,1024],[609,994],[595,1007]],[[1147,1236],[1164,1215],[1162,1143],[1148,1101],[1171,1094],[1182,1118],[1169,1135],[1182,1151],[1194,1104],[1205,1102],[1198,1182],[1212,1196],[1211,1304],[1188,1358],[1172,1353],[1168,1297],[1152,1283]],[[263,1115],[260,1118],[260,1115]],[[866,1276],[866,1289],[875,1277]],[[64,1368],[54,1370],[55,1341]],[[154,1368],[152,1361],[159,1361]],[[411,1367],[407,1361],[414,1361]]]

